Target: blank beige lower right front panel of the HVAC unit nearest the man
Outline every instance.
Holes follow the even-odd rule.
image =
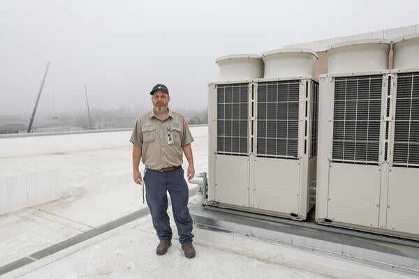
[[[255,163],[255,177],[255,208],[300,214],[298,160],[258,158]],[[302,215],[305,216],[305,212]]]

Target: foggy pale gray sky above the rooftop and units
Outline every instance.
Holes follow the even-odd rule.
[[[207,107],[215,59],[419,24],[419,1],[0,0],[0,114]]]

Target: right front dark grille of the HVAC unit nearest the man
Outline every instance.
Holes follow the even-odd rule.
[[[299,80],[258,84],[257,156],[297,158]]]

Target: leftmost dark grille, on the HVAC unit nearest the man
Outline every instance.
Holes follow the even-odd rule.
[[[248,155],[249,84],[217,88],[217,152]]]

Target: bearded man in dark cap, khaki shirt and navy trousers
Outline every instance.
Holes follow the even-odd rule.
[[[191,147],[193,137],[184,117],[169,110],[168,88],[156,84],[150,94],[153,110],[140,116],[131,135],[133,179],[139,185],[142,185],[144,179],[147,204],[160,240],[156,253],[164,255],[172,245],[172,229],[167,213],[168,191],[184,255],[195,257],[192,246],[193,223],[188,209],[189,188],[182,169],[184,153],[189,163],[188,180],[195,175]],[[141,159],[145,165],[143,179],[138,169]]]

